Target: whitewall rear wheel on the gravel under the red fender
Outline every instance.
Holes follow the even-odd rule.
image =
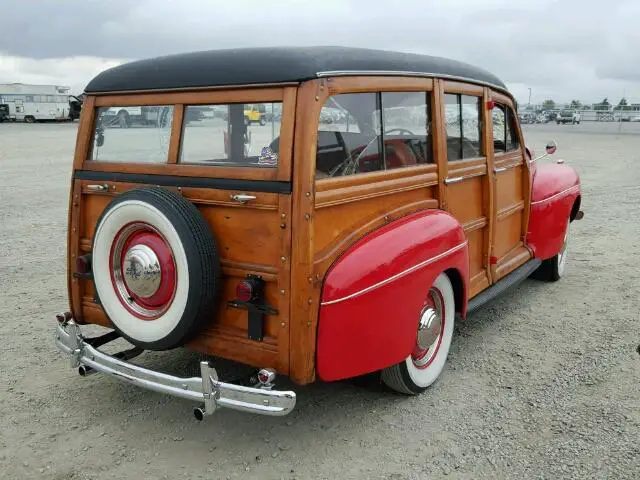
[[[455,321],[453,287],[441,273],[429,289],[420,313],[416,341],[402,362],[382,371],[382,381],[392,390],[416,395],[436,381],[449,354]]]

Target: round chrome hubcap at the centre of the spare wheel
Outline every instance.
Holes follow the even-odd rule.
[[[146,245],[131,247],[124,256],[124,281],[129,291],[139,297],[150,297],[158,291],[162,279],[156,253]]]

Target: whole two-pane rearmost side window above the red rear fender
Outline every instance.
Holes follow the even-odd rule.
[[[334,95],[320,112],[316,178],[433,161],[426,92]]]

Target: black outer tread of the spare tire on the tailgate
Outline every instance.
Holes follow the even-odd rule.
[[[152,342],[141,341],[118,328],[113,319],[111,321],[116,330],[134,345],[147,350],[174,348],[193,338],[215,314],[221,284],[216,241],[206,220],[192,203],[161,187],[143,187],[122,193],[107,205],[97,225],[102,223],[110,210],[128,200],[155,207],[174,227],[187,257],[189,290],[182,318],[164,338]],[[94,276],[96,274],[104,273],[94,272]]]

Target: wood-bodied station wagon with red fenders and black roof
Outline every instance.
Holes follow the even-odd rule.
[[[81,374],[193,400],[199,419],[287,414],[296,395],[273,389],[276,372],[303,385],[381,371],[423,391],[456,318],[531,274],[562,276],[583,215],[578,175],[537,165],[504,84],[447,59],[219,50],[115,67],[86,93],[57,344]],[[86,338],[87,323],[114,330]],[[134,348],[99,350],[120,336]],[[177,346],[257,381],[129,362]]]

